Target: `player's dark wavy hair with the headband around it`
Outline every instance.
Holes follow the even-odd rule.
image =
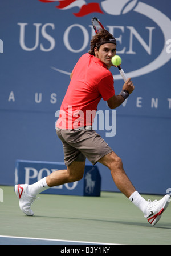
[[[100,45],[103,45],[104,43],[115,43],[116,45],[116,40],[107,30],[101,29],[99,33],[93,36],[88,53],[95,55],[95,47],[97,47],[97,50],[99,50]]]

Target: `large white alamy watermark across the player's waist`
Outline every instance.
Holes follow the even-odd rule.
[[[73,111],[72,106],[68,106],[67,113],[57,110],[55,117],[59,118],[56,122],[60,123],[62,129],[71,129],[72,127],[74,130],[82,130],[93,122],[93,130],[105,131],[106,137],[116,135],[116,110],[86,110],[85,113],[82,110]]]

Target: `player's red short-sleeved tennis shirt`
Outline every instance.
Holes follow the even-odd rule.
[[[72,73],[56,122],[60,129],[92,126],[100,99],[107,101],[115,95],[111,71],[95,56],[82,55]]]

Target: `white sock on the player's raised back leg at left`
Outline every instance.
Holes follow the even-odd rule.
[[[28,185],[28,193],[33,197],[36,197],[39,193],[43,192],[44,190],[48,189],[49,186],[46,183],[46,177],[40,179],[40,181],[35,182],[32,185]]]

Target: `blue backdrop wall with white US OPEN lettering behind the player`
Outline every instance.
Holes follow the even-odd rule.
[[[0,7],[0,184],[14,184],[16,159],[63,162],[55,121],[70,73],[89,50],[96,16],[116,37],[135,85],[116,120],[110,110],[110,122],[104,120],[104,130],[97,122],[97,132],[140,193],[165,194],[171,185],[170,0],[6,0]],[[111,72],[119,94],[123,80],[115,67]],[[98,110],[109,110],[106,102]],[[118,191],[110,171],[97,166],[101,189]]]

